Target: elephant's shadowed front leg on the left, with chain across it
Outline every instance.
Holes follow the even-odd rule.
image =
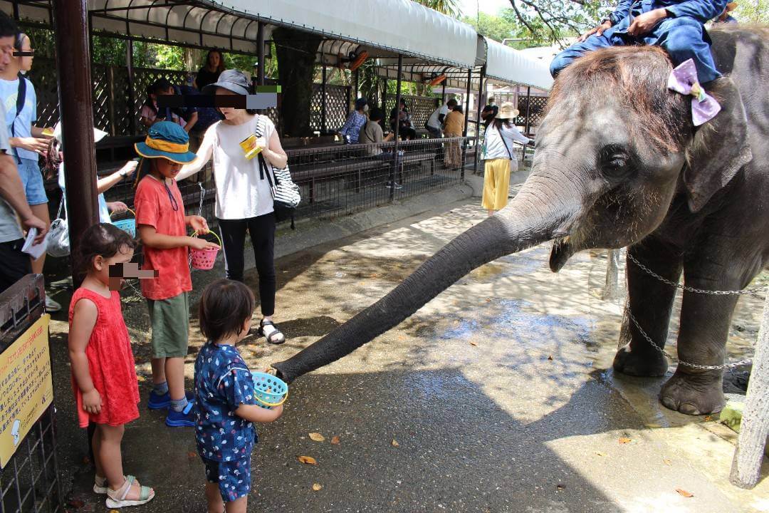
[[[681,257],[654,238],[628,248],[628,254],[647,268],[677,282],[681,276]],[[667,359],[641,335],[631,320],[632,313],[641,329],[660,347],[667,340],[676,288],[659,281],[628,258],[628,305],[625,307],[620,346],[614,356],[614,370],[631,376],[664,376]]]

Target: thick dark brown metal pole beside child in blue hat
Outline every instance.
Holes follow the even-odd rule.
[[[58,73],[58,105],[61,109],[65,187],[72,253],[80,236],[98,223],[96,194],[96,153],[91,95],[91,54],[88,52],[88,6],[86,0],[53,2]],[[73,276],[74,286],[80,286]]]

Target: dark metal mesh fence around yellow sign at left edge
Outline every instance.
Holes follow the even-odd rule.
[[[43,315],[44,298],[42,275],[27,275],[0,295],[0,353]],[[0,513],[58,511],[64,507],[51,405],[0,471]]]

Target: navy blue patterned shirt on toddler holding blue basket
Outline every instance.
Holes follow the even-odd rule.
[[[251,422],[235,415],[240,405],[255,405],[254,380],[232,345],[206,342],[195,360],[195,440],[202,458],[250,458],[258,440]]]

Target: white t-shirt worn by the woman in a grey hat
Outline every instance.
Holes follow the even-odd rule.
[[[247,219],[273,212],[267,176],[263,180],[259,177],[259,159],[247,160],[240,146],[241,141],[256,132],[260,119],[265,132],[262,137],[269,141],[275,125],[263,115],[255,115],[242,125],[216,122],[205,131],[198,155],[213,150],[217,218]],[[266,155],[265,161],[271,165]]]

